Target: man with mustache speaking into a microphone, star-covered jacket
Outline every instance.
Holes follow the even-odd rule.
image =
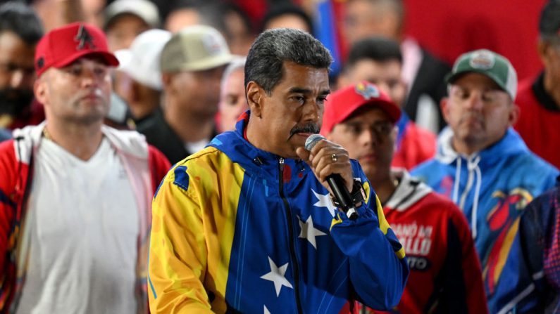
[[[399,303],[404,249],[358,162],[321,138],[305,148],[321,126],[331,61],[299,30],[268,30],[251,46],[249,111],[236,131],[175,164],[154,197],[152,313],[340,313],[351,300],[378,310]]]

